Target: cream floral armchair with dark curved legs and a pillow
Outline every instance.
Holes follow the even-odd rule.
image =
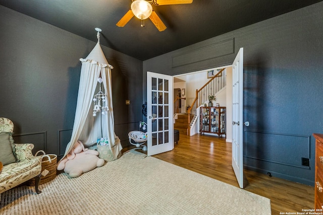
[[[10,119],[0,117],[0,193],[5,192],[35,177],[36,193],[41,172],[40,157],[32,155],[33,144],[15,144],[12,134],[14,124]]]

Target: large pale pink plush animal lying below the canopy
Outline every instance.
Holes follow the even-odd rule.
[[[98,155],[97,151],[84,148],[82,142],[77,140],[73,150],[58,163],[57,169],[64,169],[72,178],[79,177],[82,173],[103,166],[104,160]]]

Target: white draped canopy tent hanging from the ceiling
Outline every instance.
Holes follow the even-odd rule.
[[[63,158],[73,149],[77,140],[81,140],[86,148],[93,149],[93,146],[96,147],[98,138],[107,137],[114,159],[117,159],[121,155],[122,146],[114,130],[111,87],[111,69],[113,66],[107,62],[100,47],[99,33],[98,42],[93,50],[85,59],[81,58],[80,61],[82,67],[73,131]],[[105,105],[108,110],[105,114],[93,116],[93,96],[99,78],[102,79],[107,100]]]

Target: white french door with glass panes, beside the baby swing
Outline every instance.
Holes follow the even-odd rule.
[[[147,155],[174,149],[173,77],[147,72]]]

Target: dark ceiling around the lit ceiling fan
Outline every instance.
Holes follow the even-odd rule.
[[[167,26],[159,32],[149,19],[145,27],[133,17],[116,23],[130,10],[131,0],[0,0],[0,5],[97,41],[140,60],[215,37],[322,0],[193,0],[187,5],[152,6]]]

